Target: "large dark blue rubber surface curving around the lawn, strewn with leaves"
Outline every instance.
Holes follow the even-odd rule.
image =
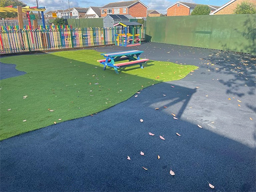
[[[157,43],[136,49],[199,69],[94,116],[1,141],[1,191],[256,190],[255,56]]]

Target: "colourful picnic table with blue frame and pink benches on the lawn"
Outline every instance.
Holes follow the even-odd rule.
[[[118,73],[119,68],[129,67],[132,65],[140,65],[140,68],[143,69],[143,63],[148,61],[148,59],[140,59],[140,54],[144,51],[131,50],[131,51],[120,51],[115,53],[102,53],[105,59],[97,60],[102,65],[104,65],[103,70],[106,69],[106,66],[114,68],[116,74]],[[122,63],[116,63],[117,61],[128,60]]]

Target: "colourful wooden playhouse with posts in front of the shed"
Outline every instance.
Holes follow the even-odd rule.
[[[141,44],[141,24],[137,22],[119,22],[114,27],[121,27],[121,33],[115,34],[117,46],[131,47]]]

